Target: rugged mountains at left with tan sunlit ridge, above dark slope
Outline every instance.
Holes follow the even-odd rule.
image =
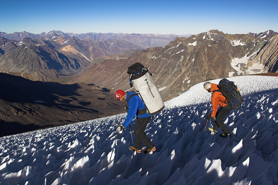
[[[141,49],[125,40],[83,41],[57,34],[21,41],[0,37],[0,70],[30,80],[52,81],[79,73],[96,57]]]

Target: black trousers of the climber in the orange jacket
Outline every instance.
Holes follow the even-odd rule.
[[[226,108],[227,107],[227,108]],[[228,105],[226,105],[225,107],[221,107],[216,115],[215,115],[215,122],[213,125],[213,129],[215,131],[218,131],[219,127],[220,129],[223,130],[224,134],[230,134],[230,130],[228,129],[228,127],[224,124],[223,119],[227,116],[227,114],[229,114],[229,112],[232,110],[232,108],[230,108],[230,106],[228,107]]]

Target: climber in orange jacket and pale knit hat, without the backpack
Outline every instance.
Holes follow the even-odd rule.
[[[217,87],[217,84],[205,82],[204,88],[212,93],[211,96],[211,104],[212,104],[212,112],[211,114],[207,115],[207,120],[214,119],[214,125],[212,128],[208,128],[210,132],[214,132],[214,134],[217,134],[218,129],[223,130],[223,134],[220,134],[220,137],[227,137],[228,135],[231,137],[230,130],[228,127],[224,124],[223,119],[229,114],[229,112],[232,110],[232,107],[228,104],[226,98],[222,95],[221,92],[216,91],[219,88]],[[221,106],[220,109],[217,111],[219,105]]]

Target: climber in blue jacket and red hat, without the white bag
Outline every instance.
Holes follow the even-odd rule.
[[[123,125],[118,125],[116,131],[119,133],[124,130],[130,122],[136,117],[136,125],[134,128],[135,135],[135,144],[130,146],[131,151],[136,151],[141,153],[142,151],[142,142],[147,147],[144,150],[144,154],[148,154],[151,151],[155,151],[155,146],[152,141],[148,138],[147,134],[144,132],[147,124],[151,120],[150,114],[147,112],[147,108],[143,103],[142,99],[135,92],[124,92],[123,90],[117,90],[116,98],[122,102],[127,101],[128,103],[128,112]]]

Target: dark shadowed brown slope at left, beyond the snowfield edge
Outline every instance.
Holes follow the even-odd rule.
[[[0,73],[0,137],[123,112],[115,94],[84,83],[62,85]]]

